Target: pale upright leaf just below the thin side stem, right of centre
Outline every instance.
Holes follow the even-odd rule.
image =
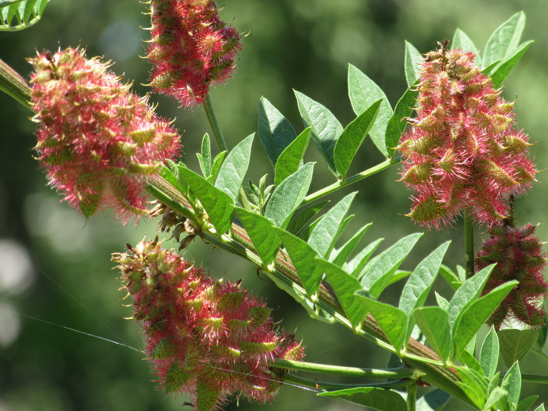
[[[335,245],[336,239],[341,234],[341,221],[352,204],[352,200],[356,196],[356,192],[345,196],[341,201],[335,204],[323,218],[318,222],[316,227],[310,233],[308,243],[315,249],[319,255],[328,258],[331,250]]]

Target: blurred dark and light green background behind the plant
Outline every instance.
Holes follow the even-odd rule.
[[[455,28],[463,29],[483,48],[490,33],[512,14],[524,10],[527,26],[523,40],[535,39],[522,61],[510,73],[504,95],[517,95],[518,127],[536,142],[531,152],[538,169],[548,162],[548,139],[544,121],[548,104],[548,3],[528,0],[239,0],[229,1],[221,14],[240,31],[250,31],[234,78],[212,92],[212,99],[229,146],[256,131],[258,100],[269,99],[292,122],[297,132],[302,122],[292,88],[310,96],[333,111],[346,125],[354,115],[346,91],[347,64],[360,68],[376,81],[395,104],[404,92],[404,40],[420,52],[451,39]],[[42,21],[22,32],[0,32],[0,58],[23,76],[30,73],[25,58],[35,50],[82,45],[88,56],[104,55],[116,64],[112,70],[125,73],[135,89],[146,93],[148,63],[141,40],[150,25],[143,15],[145,5],[136,0],[52,0]],[[543,28],[544,27],[544,28]],[[153,96],[157,111],[176,117],[175,125],[185,130],[183,161],[197,167],[198,150],[208,124],[199,107],[178,109],[172,101]],[[93,336],[59,326],[104,336],[141,348],[142,341],[133,321],[123,319],[130,309],[123,307],[117,272],[112,271],[110,254],[123,251],[124,243],[135,244],[143,236],[155,235],[155,221],[141,219],[137,227],[113,223],[111,215],[89,221],[77,215],[60,197],[45,186],[45,178],[32,159],[35,145],[31,112],[5,94],[0,95],[0,411],[49,410],[177,410],[184,397],[163,398],[151,383],[145,361],[138,352]],[[250,169],[255,182],[270,174],[270,163],[255,141]],[[311,147],[307,161],[318,161],[312,190],[333,182]],[[351,172],[382,161],[370,142],[356,157]],[[544,179],[539,174],[539,180]],[[367,239],[386,238],[384,247],[408,233],[418,231],[408,218],[409,192],[396,183],[393,167],[348,187],[359,190],[351,212],[356,224],[374,221]],[[536,183],[517,201],[518,222],[543,221],[548,190]],[[331,199],[340,198],[332,195]],[[539,226],[548,239],[548,225]],[[446,239],[453,239],[445,260],[463,263],[461,230],[425,233],[402,268],[414,265]],[[479,243],[479,237],[476,243]],[[383,248],[383,246],[381,246]],[[254,293],[265,296],[274,308],[276,321],[304,339],[307,359],[349,366],[386,367],[388,355],[368,341],[339,325],[313,321],[286,294],[266,279],[259,278],[247,262],[193,242],[188,258],[203,262],[212,275],[243,279]],[[396,302],[401,284],[384,294]],[[435,284],[442,295],[451,295],[443,281]],[[31,316],[34,318],[29,318]],[[57,325],[54,325],[57,324]],[[540,360],[540,361],[539,361]],[[534,353],[524,359],[522,372],[547,374],[547,362]],[[309,376],[309,375],[305,375]],[[311,376],[310,378],[314,378]],[[322,378],[318,375],[318,378]],[[427,390],[427,389],[424,389]],[[426,391],[424,391],[426,392]],[[523,384],[522,397],[536,393],[548,400],[544,386]],[[226,409],[236,409],[236,402]],[[242,411],[257,404],[242,400]],[[285,386],[272,411],[357,410],[359,407],[312,392]],[[267,409],[267,408],[264,408]],[[363,409],[363,408],[362,408]],[[469,409],[452,400],[447,409]]]

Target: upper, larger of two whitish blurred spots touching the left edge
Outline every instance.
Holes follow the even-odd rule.
[[[19,294],[26,290],[35,278],[27,250],[21,244],[0,239],[0,292]]]

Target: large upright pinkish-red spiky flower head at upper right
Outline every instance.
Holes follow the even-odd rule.
[[[469,210],[491,226],[507,217],[510,195],[535,180],[528,136],[513,127],[513,102],[481,73],[475,54],[446,45],[426,55],[416,117],[396,147],[401,181],[415,191],[408,215],[439,229]]]

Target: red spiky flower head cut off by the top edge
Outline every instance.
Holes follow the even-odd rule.
[[[242,36],[219,18],[214,0],[151,0],[150,10],[153,90],[181,106],[201,104],[230,77]]]

